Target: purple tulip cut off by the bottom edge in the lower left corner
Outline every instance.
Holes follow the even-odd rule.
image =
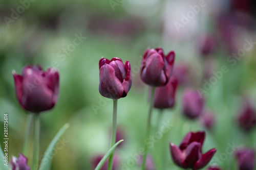
[[[30,170],[28,159],[23,154],[19,154],[18,158],[12,156],[10,167],[12,170]]]

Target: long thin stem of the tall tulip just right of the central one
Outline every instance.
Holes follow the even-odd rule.
[[[154,95],[155,95],[155,87],[152,87],[151,90],[151,100],[150,100],[150,111],[148,111],[148,117],[147,117],[147,124],[146,124],[146,138],[145,140],[148,139],[150,136],[150,129],[151,129],[151,117],[152,117],[152,110],[153,110],[153,105],[154,105]],[[145,164],[146,164],[146,156],[147,156],[147,143],[144,145],[144,155],[143,155],[143,160],[142,160],[142,165],[141,169],[145,169]]]

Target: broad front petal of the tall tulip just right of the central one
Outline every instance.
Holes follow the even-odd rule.
[[[163,71],[164,62],[159,54],[151,55],[142,70],[142,80],[152,86],[162,86],[167,83]]]

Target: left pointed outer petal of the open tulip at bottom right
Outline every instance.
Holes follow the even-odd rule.
[[[170,142],[170,153],[172,155],[174,163],[176,163],[178,166],[182,168],[187,168],[187,164],[185,162],[184,154],[181,152],[181,150],[172,142]]]

